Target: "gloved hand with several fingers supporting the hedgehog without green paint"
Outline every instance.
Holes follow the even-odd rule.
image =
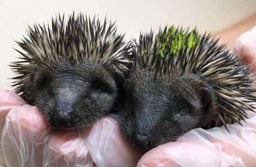
[[[140,157],[114,120],[104,118],[80,133],[53,130],[35,106],[11,91],[0,91],[0,120],[0,155],[8,167],[134,167]]]

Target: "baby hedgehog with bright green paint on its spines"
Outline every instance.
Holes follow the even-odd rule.
[[[140,33],[115,118],[135,146],[149,150],[194,128],[228,130],[254,112],[254,74],[218,40],[176,26]]]

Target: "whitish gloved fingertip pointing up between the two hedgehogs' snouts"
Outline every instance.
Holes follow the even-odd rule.
[[[135,167],[142,153],[122,136],[117,122],[110,117],[80,131],[98,167]]]

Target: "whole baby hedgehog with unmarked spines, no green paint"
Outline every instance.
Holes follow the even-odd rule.
[[[82,13],[29,26],[11,63],[17,94],[36,105],[55,129],[90,126],[122,99],[131,43],[115,22]]]

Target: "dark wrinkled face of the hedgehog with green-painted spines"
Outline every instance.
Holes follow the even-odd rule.
[[[144,150],[201,127],[212,110],[213,92],[195,75],[155,78],[137,73],[126,85],[128,100],[121,127]]]

